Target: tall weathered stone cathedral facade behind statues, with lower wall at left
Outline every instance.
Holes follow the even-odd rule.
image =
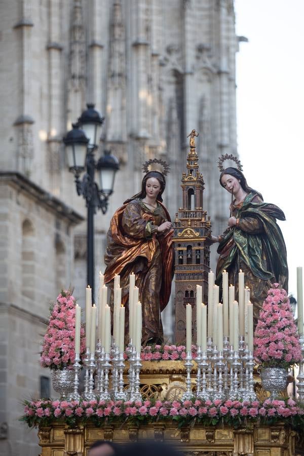
[[[237,50],[233,0],[0,3],[0,452],[39,451],[16,418],[20,401],[48,385],[37,353],[49,302],[68,285],[84,302],[86,208],[63,135],[94,102],[105,116],[97,155],[110,148],[121,163],[108,212],[95,216],[96,274],[110,217],[138,191],[145,160],[170,164],[165,204],[178,210],[192,129],[218,234],[229,195],[216,158],[237,153]],[[172,307],[163,321],[170,334]]]

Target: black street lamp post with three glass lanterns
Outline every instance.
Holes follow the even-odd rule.
[[[104,150],[96,163],[94,151],[98,148],[100,128],[104,117],[94,109],[94,104],[87,104],[86,109],[78,120],[72,124],[73,129],[63,138],[69,170],[75,176],[78,195],[86,200],[88,208],[87,231],[87,282],[94,296],[94,214],[101,209],[105,214],[108,208],[108,198],[113,193],[115,174],[119,162],[111,155],[110,150]],[[99,187],[94,180],[95,169],[98,172]],[[81,173],[85,171],[80,180]]]

